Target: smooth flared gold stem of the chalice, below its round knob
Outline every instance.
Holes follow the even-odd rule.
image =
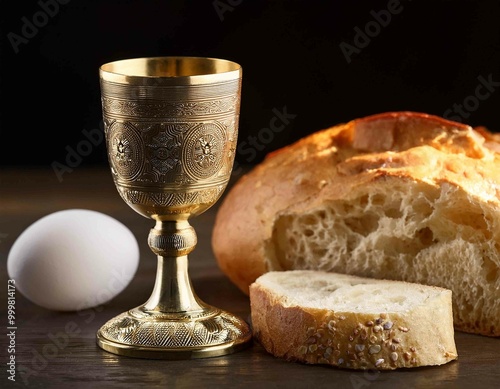
[[[205,304],[196,296],[188,275],[187,255],[158,256],[153,292],[144,309],[162,313],[201,312]]]

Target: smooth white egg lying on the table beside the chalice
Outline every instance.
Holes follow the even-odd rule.
[[[117,296],[138,264],[139,246],[125,225],[100,212],[69,209],[23,231],[9,252],[7,271],[33,303],[78,311]]]

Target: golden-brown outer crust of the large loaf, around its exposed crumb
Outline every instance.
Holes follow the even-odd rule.
[[[387,185],[386,191],[395,183],[421,183],[437,189],[449,185],[498,219],[499,140],[485,128],[473,129],[415,112],[373,115],[311,134],[269,154],[225,195],[212,235],[217,262],[248,294],[250,284],[260,275],[288,270],[276,260],[273,241],[280,215],[298,215],[326,202],[349,201],[379,184]],[[498,283],[500,234],[486,234],[485,239],[498,240],[498,250],[491,260],[499,270],[487,276]],[[442,275],[438,286],[447,287],[447,276]],[[397,271],[394,279],[398,279]],[[421,281],[412,277],[406,280]],[[461,305],[456,307],[460,309]],[[500,306],[495,309],[500,315]],[[460,330],[500,336],[498,323],[487,318],[472,322],[457,319]]]

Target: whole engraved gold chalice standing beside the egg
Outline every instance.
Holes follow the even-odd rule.
[[[235,157],[241,66],[203,57],[131,58],[99,69],[105,138],[122,199],[155,221],[158,256],[151,297],[105,323],[98,345],[138,358],[189,359],[235,352],[251,332],[237,316],[201,301],[188,254],[189,219],[210,208]]]

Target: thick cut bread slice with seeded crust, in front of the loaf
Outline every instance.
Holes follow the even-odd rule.
[[[448,289],[290,270],[264,274],[249,292],[254,337],[276,357],[377,370],[458,358]]]

